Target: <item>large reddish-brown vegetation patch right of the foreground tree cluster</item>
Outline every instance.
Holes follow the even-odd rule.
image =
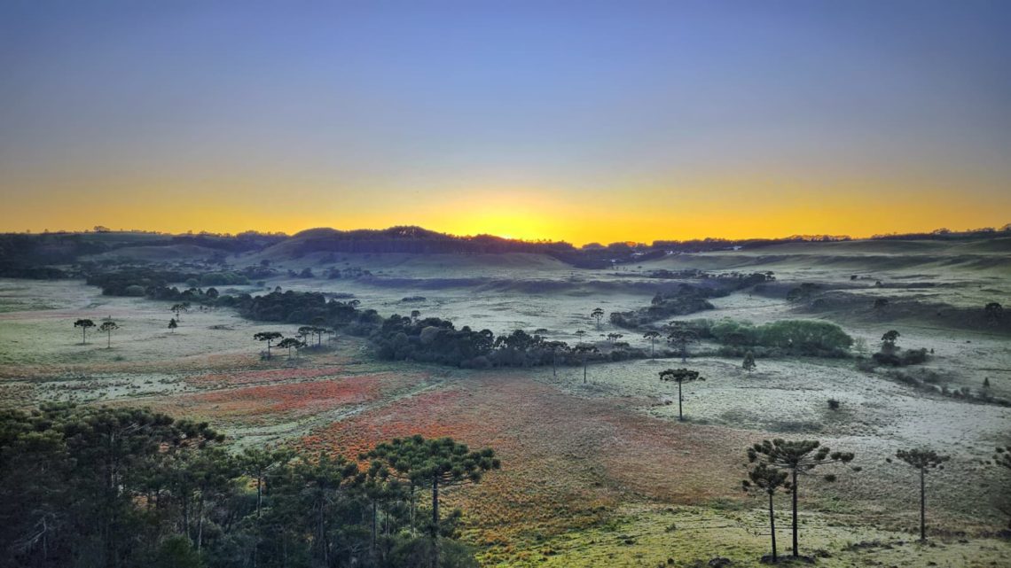
[[[590,525],[623,496],[698,502],[734,495],[739,460],[727,456],[748,443],[733,431],[670,423],[623,400],[573,396],[517,373],[449,383],[335,422],[297,445],[354,458],[415,434],[488,446],[501,457],[502,471],[454,495],[471,511],[476,538],[500,545],[511,534]]]

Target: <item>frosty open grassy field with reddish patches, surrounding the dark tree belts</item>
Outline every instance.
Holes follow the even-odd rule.
[[[646,346],[607,322],[598,329],[588,313],[647,305],[657,290],[676,284],[647,278],[650,270],[767,269],[784,286],[818,283],[859,296],[859,306],[888,297],[982,308],[987,301],[1009,303],[1011,253],[999,241],[948,248],[787,245],[671,256],[615,271],[580,271],[525,255],[347,256],[338,266],[366,268],[373,278],[276,278],[242,289],[350,293],[384,315],[420,309],[457,325],[544,328],[550,339],[569,342],[578,329],[591,339],[618,332]],[[320,259],[280,253],[264,255],[285,270],[324,268]],[[889,257],[891,265],[882,260]],[[425,299],[403,301],[411,296]],[[914,311],[891,316],[799,304],[777,293],[739,292],[713,303],[716,309],[685,318],[827,318],[862,339],[868,352],[896,328],[903,347],[933,350],[917,371],[929,371],[932,385],[980,391],[988,378],[991,394],[1011,396],[1011,337],[998,330],[946,326],[943,318]],[[121,328],[111,348],[95,333],[82,345],[73,327],[79,317],[115,319]],[[678,422],[676,390],[657,373],[682,366],[679,360],[592,365],[583,384],[574,367],[554,376],[544,368],[465,371],[379,362],[362,340],[338,337],[324,350],[291,360],[275,352],[265,361],[253,334],[292,334],[294,325],[264,325],[227,309],[194,310],[172,333],[170,317],[167,302],[101,296],[79,282],[0,280],[0,401],[146,405],[206,419],[237,447],[283,442],[354,457],[411,434],[490,446],[502,470],[448,495],[466,511],[463,535],[485,566],[705,566],[718,557],[757,565],[767,553],[767,517],[764,502],[740,490],[745,450],[774,437],[817,439],[854,452],[851,465],[859,468],[834,469],[835,483],[812,477],[801,485],[802,552],[817,551],[819,565],[1011,565],[1011,545],[995,536],[1007,524],[995,504],[1011,497],[1008,472],[985,463],[995,446],[1011,443],[1011,408],[914,388],[857,370],[852,359],[759,359],[747,373],[739,360],[693,357],[683,366],[707,380],[686,385],[687,420]],[[829,398],[839,401],[837,410]],[[928,478],[930,545],[914,542],[915,472],[886,462],[896,450],[916,446],[951,455]],[[786,496],[778,498],[780,552],[789,547],[788,505]]]

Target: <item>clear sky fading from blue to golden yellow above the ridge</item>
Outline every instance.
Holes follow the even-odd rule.
[[[1011,2],[0,1],[0,230],[1011,222]]]

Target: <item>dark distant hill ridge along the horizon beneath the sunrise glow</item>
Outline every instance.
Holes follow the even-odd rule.
[[[589,244],[575,248],[564,242],[515,241],[491,234],[459,236],[420,226],[339,230],[317,227],[288,236],[283,233],[246,231],[239,234],[208,232],[162,234],[141,231],[6,233],[0,234],[0,276],[49,277],[49,267],[66,266],[79,259],[167,261],[205,258],[223,262],[227,257],[263,254],[265,258],[301,258],[310,254],[406,255],[543,255],[579,268],[608,268],[614,263],[662,259],[669,253],[762,251],[763,254],[803,254],[808,244],[824,244],[830,254],[943,254],[987,255],[1011,253],[1011,225],[1001,229],[963,232],[939,229],[930,233],[877,235],[856,241],[848,236],[794,235],[784,239],[703,239],[654,241],[652,244]],[[954,247],[955,249],[950,249]],[[814,251],[812,251],[814,252]],[[817,254],[828,251],[819,250]],[[44,269],[39,272],[36,269]]]

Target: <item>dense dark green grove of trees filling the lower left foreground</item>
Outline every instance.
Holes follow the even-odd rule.
[[[347,461],[222,441],[145,409],[0,411],[0,565],[476,566],[441,491],[498,469],[489,449],[416,437]]]

